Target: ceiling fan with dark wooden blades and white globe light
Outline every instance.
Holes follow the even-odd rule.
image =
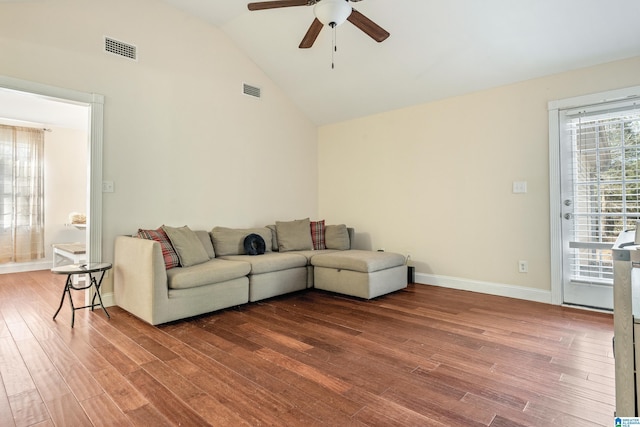
[[[378,43],[389,37],[389,33],[385,29],[353,9],[349,1],[355,3],[361,0],[276,0],[249,3],[247,7],[249,10],[264,10],[279,7],[314,6],[313,13],[316,18],[302,38],[300,46],[298,46],[300,49],[308,49],[313,46],[323,26],[328,25],[335,28],[344,21],[351,22]]]

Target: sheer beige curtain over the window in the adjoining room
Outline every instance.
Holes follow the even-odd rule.
[[[44,258],[44,131],[0,125],[0,263]]]

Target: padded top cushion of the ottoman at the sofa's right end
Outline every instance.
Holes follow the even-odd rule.
[[[315,267],[359,271],[362,273],[398,267],[403,265],[404,262],[404,256],[400,254],[360,250],[318,254],[311,258],[311,264]]]

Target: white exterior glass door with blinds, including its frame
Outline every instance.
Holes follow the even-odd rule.
[[[559,303],[613,309],[611,247],[640,219],[640,98],[634,93],[573,98],[550,108],[550,159],[553,164],[557,155],[558,168],[551,169],[557,182],[552,264],[558,266],[552,288],[559,287],[552,291]]]

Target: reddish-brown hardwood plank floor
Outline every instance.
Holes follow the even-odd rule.
[[[411,285],[71,329],[63,284],[0,275],[0,426],[613,425],[608,314]]]

